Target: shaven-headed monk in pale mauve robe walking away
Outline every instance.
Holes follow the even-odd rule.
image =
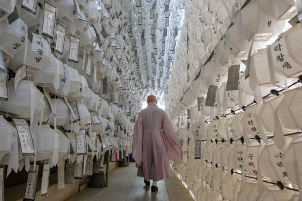
[[[153,180],[151,192],[156,192],[157,181],[171,177],[169,159],[182,163],[183,153],[168,115],[156,105],[156,97],[149,96],[147,103],[136,120],[132,156],[137,175],[144,177],[146,186]]]

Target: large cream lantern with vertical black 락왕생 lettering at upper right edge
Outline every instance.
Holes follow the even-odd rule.
[[[299,39],[302,37],[302,28],[295,25],[279,35],[279,38],[270,45],[271,62],[274,70],[286,77],[297,77],[302,72],[302,48]]]

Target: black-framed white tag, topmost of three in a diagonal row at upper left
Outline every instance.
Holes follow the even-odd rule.
[[[53,39],[57,8],[44,2],[44,15],[42,25],[42,35]]]

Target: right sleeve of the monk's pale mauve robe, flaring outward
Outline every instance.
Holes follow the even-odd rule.
[[[163,115],[162,129],[165,137],[164,142],[168,158],[178,163],[183,163],[182,146],[166,112],[164,112]]]

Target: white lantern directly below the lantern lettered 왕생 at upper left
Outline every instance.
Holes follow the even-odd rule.
[[[63,63],[51,54],[50,64],[47,67],[40,69],[34,75],[33,79],[35,84],[40,86],[54,86],[56,88],[60,86],[60,81],[63,77]]]

